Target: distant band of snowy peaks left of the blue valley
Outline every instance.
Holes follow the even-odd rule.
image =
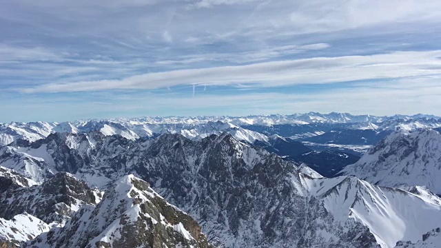
[[[106,136],[119,134],[124,138],[136,140],[140,137],[152,137],[159,134],[181,134],[186,138],[201,139],[211,134],[229,132],[240,140],[254,143],[256,140],[267,141],[264,134],[245,130],[232,123],[221,121],[208,121],[200,124],[163,123],[151,124],[140,123],[139,121],[79,121],[76,123],[45,123],[47,129],[39,130],[34,128],[35,123],[11,123],[0,126],[0,145],[8,145],[18,139],[26,141],[37,141],[55,132],[66,132],[72,134],[98,131]],[[30,130],[30,131],[29,131]]]

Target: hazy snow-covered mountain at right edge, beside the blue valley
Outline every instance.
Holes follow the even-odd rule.
[[[394,132],[341,174],[388,187],[422,185],[441,194],[441,135],[435,130]]]

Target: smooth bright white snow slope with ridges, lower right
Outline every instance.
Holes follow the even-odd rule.
[[[336,221],[347,218],[369,227],[382,247],[398,240],[417,241],[438,227],[441,205],[401,189],[378,187],[353,177],[305,178],[309,194],[322,198]]]

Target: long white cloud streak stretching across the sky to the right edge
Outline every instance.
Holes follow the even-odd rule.
[[[391,52],[367,56],[318,57],[152,72],[120,80],[49,83],[20,88],[21,92],[82,92],[114,89],[158,89],[177,85],[252,84],[260,87],[338,83],[369,79],[399,79],[441,73],[441,50]]]

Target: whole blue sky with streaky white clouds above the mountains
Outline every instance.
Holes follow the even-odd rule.
[[[3,123],[441,115],[441,1],[0,1]]]

